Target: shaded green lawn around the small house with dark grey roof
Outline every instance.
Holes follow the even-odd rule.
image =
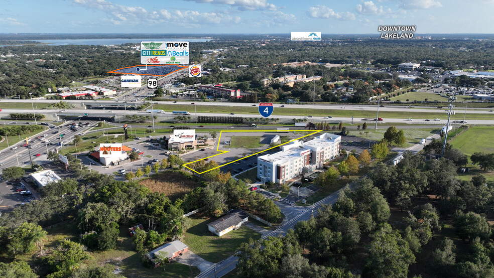
[[[211,235],[207,224],[216,220],[196,213],[190,216],[192,226],[187,229],[183,242],[189,246],[189,250],[201,256],[203,259],[218,262],[231,256],[242,242],[248,242],[249,238],[260,239],[261,234],[248,227],[241,226],[238,230],[232,230],[221,237]]]

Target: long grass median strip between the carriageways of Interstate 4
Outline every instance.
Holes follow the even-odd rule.
[[[406,98],[405,98],[406,99]],[[172,104],[156,104],[155,109],[163,109],[166,111],[171,110],[184,110],[191,109],[191,105],[172,105]],[[276,115],[293,115],[294,118],[299,118],[301,116],[333,116],[333,117],[362,117],[370,118],[376,116],[376,111],[368,110],[352,110],[352,106],[345,106],[346,109],[331,110],[331,109],[306,109],[306,108],[293,108],[291,105],[286,105],[286,107],[276,109],[273,112],[272,118],[276,118]],[[197,105],[197,112],[211,112],[215,113],[241,113],[241,114],[253,114],[259,115],[258,107],[249,106],[210,106],[210,105]],[[407,113],[399,111],[379,111],[379,116],[382,118],[447,118],[445,113],[441,112],[413,112],[413,110]],[[491,119],[492,116],[489,114],[470,114],[466,113],[467,119]]]

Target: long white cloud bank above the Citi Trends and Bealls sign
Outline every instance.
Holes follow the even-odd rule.
[[[240,22],[240,18],[237,16],[214,12],[200,13],[191,10],[146,11],[146,9],[142,7],[122,6],[113,4],[106,0],[72,0],[72,2],[88,9],[106,13],[108,15],[108,19],[104,20],[111,22],[114,25],[121,25],[126,22],[135,21],[146,22],[151,25],[174,21],[180,26],[198,27],[200,24],[229,24]]]

